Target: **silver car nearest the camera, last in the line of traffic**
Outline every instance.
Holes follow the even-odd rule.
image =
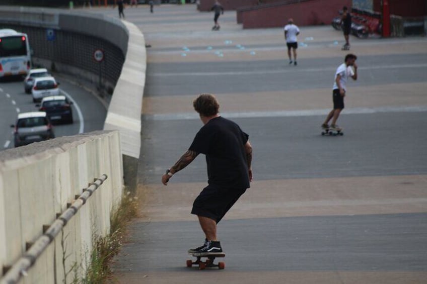
[[[21,113],[15,125],[15,147],[55,138],[53,127],[45,112]]]

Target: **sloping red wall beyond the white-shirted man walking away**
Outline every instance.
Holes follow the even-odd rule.
[[[329,25],[343,6],[351,7],[352,0],[311,0],[238,12],[244,29],[284,27],[289,18],[297,26]],[[239,15],[240,14],[240,15]]]

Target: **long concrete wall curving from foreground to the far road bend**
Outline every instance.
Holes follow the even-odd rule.
[[[70,269],[75,264],[77,276],[81,276],[88,263],[85,257],[91,251],[92,238],[109,232],[110,212],[120,200],[123,177],[129,190],[136,184],[146,71],[144,35],[131,23],[83,14],[81,11],[0,7],[2,24],[44,31],[59,27],[58,33],[77,35],[83,39],[82,44],[108,42],[123,54],[122,68],[118,67],[117,78],[113,80],[114,92],[104,125],[107,131],[0,151],[0,268],[17,261],[26,251],[27,243],[42,235],[42,226],[51,224],[56,214],[81,194],[89,182],[101,174],[108,175],[22,283],[62,283],[64,279],[72,282],[76,275]],[[48,48],[43,46],[48,45],[48,41],[39,43],[41,49]],[[67,54],[61,46],[57,46],[58,54]],[[90,52],[92,54],[92,50]],[[111,54],[106,52],[106,56]],[[50,56],[36,59],[52,60]],[[79,73],[87,78],[94,76],[90,66],[88,69],[79,63],[54,62],[62,72]],[[0,271],[0,275],[3,274]]]

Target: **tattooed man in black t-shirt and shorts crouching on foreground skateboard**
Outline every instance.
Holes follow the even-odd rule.
[[[217,239],[217,224],[243,195],[252,181],[252,146],[249,135],[218,113],[220,105],[212,94],[200,94],[194,110],[204,124],[189,149],[162,176],[162,183],[190,164],[198,154],[206,156],[208,185],[194,200],[191,214],[197,215],[205,235],[202,246],[188,250],[195,256],[223,253]]]

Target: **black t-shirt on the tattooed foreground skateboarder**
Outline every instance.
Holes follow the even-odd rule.
[[[249,173],[244,145],[249,135],[231,120],[209,120],[194,137],[189,150],[206,155],[209,185],[224,188],[249,188]]]

